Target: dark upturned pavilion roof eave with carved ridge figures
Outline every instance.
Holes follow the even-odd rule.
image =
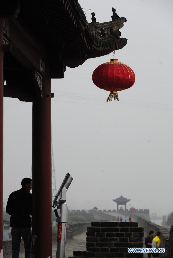
[[[109,54],[127,44],[119,31],[126,18],[89,24],[77,0],[21,1],[18,18],[48,52],[68,67],[77,67],[88,58]],[[102,34],[102,27],[106,33]]]

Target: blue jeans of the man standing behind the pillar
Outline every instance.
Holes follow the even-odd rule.
[[[11,228],[12,258],[19,258],[21,237],[24,241],[25,258],[32,258],[32,230],[31,228]]]

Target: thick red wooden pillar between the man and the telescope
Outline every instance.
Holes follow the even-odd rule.
[[[51,79],[43,78],[43,99],[32,105],[32,255],[51,258]]]

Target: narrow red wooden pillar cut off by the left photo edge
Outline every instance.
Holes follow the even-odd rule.
[[[0,258],[3,257],[3,20],[0,17]]]

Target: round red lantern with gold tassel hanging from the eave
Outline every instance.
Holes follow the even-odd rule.
[[[106,101],[118,99],[117,91],[132,87],[135,81],[133,70],[126,64],[111,59],[110,62],[99,65],[93,72],[93,83],[106,91],[110,91]]]

